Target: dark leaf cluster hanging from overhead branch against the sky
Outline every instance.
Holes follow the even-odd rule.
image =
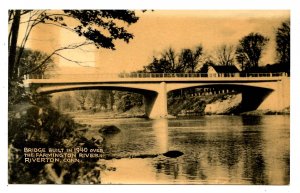
[[[121,39],[128,43],[133,38],[131,33],[118,26],[114,20],[127,25],[138,20],[134,11],[126,10],[64,10],[64,13],[80,22],[74,27],[74,31],[93,41],[97,48],[115,49],[113,40]]]

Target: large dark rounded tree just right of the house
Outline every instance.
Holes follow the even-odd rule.
[[[250,33],[239,41],[236,49],[236,59],[242,64],[243,70],[253,70],[258,67],[262,51],[269,39],[259,33]]]

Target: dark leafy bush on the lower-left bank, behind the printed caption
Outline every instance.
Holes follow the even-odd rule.
[[[24,163],[27,148],[99,148],[101,144],[78,133],[67,115],[47,106],[23,103],[9,112],[9,183],[100,183],[98,159],[74,163]]]

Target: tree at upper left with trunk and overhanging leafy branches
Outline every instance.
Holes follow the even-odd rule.
[[[45,65],[53,56],[75,62],[61,54],[62,50],[76,49],[84,45],[93,44],[97,48],[115,49],[115,40],[129,42],[133,34],[127,32],[123,24],[129,26],[137,22],[138,17],[134,11],[128,10],[9,10],[8,23],[10,26],[8,36],[9,48],[9,80],[17,80],[20,60],[25,45],[37,25],[52,25],[84,37],[85,41],[57,48],[48,57],[40,61],[36,68]],[[19,27],[26,25],[22,41],[18,43]],[[19,52],[17,53],[17,47]],[[77,62],[78,63],[78,62]]]

